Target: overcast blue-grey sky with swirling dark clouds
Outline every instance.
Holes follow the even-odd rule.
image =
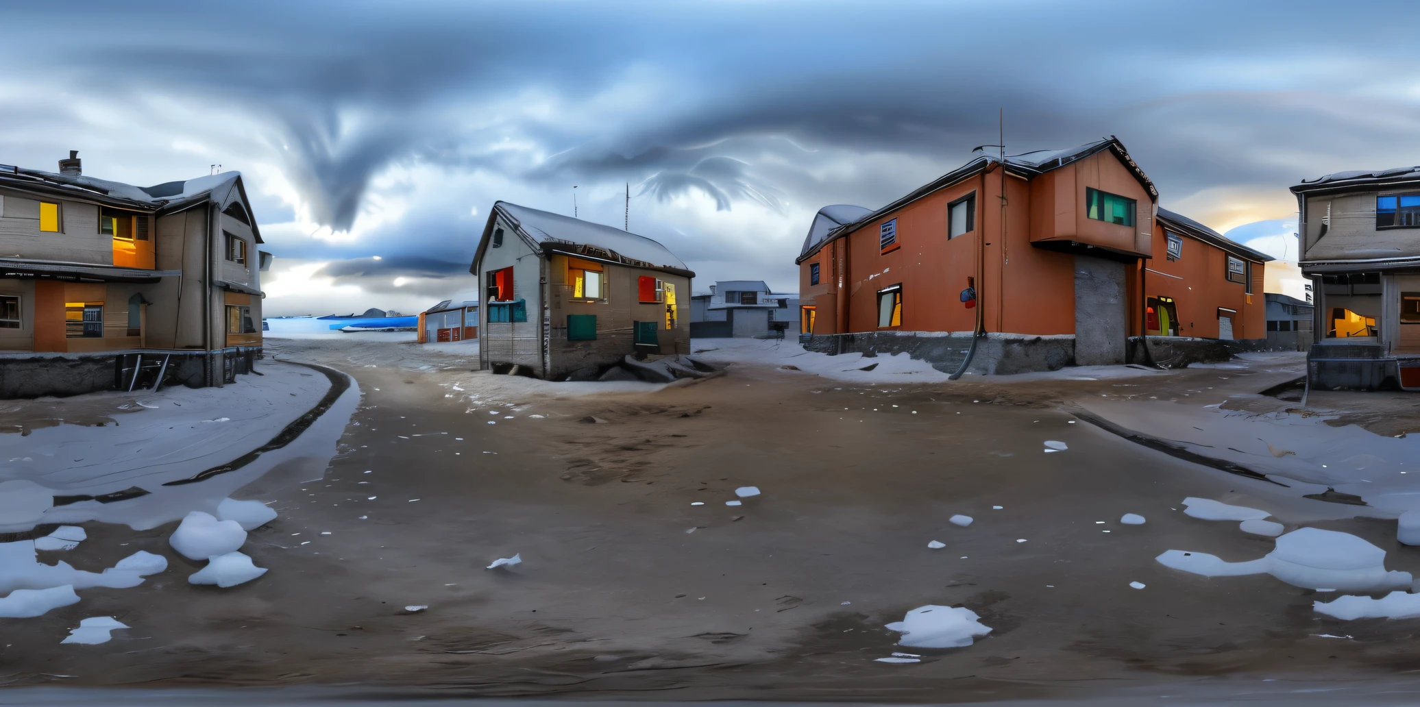
[[[949,172],[998,109],[1008,152],[1118,135],[1164,207],[1289,234],[1299,179],[1420,163],[1417,26],[1296,0],[7,3],[0,162],[241,170],[273,315],[471,290],[493,202],[569,214],[574,185],[619,226],[629,183],[697,290],[791,291],[814,212]]]

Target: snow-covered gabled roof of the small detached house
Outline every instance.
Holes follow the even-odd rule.
[[[541,246],[542,250],[602,257],[595,251],[586,250],[586,247],[591,247],[605,251],[612,261],[635,267],[670,270],[694,277],[694,273],[686,270],[686,264],[670,253],[670,250],[645,236],[508,202],[494,202],[493,209],[488,212],[488,223],[483,230],[483,240],[479,244],[476,258],[483,257],[484,244],[488,241],[488,234],[493,233],[493,224],[498,216],[513,224],[520,236],[528,239],[535,246]]]

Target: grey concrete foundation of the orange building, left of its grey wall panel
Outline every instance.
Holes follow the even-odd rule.
[[[971,348],[971,332],[875,331],[863,334],[815,335],[805,349],[821,354],[907,354],[932,363],[943,373],[956,373]],[[1028,336],[987,334],[977,342],[967,368],[971,373],[1008,375],[1031,371],[1059,371],[1075,363],[1075,336]]]

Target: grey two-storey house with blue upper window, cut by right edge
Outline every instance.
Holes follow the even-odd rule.
[[[1292,187],[1314,284],[1318,388],[1420,390],[1420,166]]]

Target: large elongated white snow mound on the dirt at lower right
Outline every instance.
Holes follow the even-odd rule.
[[[1349,532],[1301,528],[1277,538],[1260,559],[1225,562],[1206,552],[1170,549],[1159,564],[1204,576],[1269,574],[1306,589],[1380,591],[1409,588],[1410,572],[1387,572],[1386,551]]]

